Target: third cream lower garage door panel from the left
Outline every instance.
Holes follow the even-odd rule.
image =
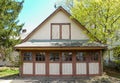
[[[50,75],[60,75],[60,63],[50,63],[49,68]]]

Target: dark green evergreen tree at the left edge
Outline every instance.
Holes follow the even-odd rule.
[[[0,54],[3,60],[10,60],[13,47],[20,42],[23,24],[18,24],[18,15],[23,7],[23,0],[0,0]]]

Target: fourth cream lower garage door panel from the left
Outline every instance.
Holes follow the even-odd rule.
[[[62,63],[62,74],[72,75],[72,63]]]

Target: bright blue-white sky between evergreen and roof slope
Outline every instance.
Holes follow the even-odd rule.
[[[60,0],[25,0],[18,20],[24,23],[23,29],[27,33],[35,29],[52,12],[55,11],[54,4]]]

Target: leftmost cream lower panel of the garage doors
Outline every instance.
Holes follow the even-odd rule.
[[[23,63],[23,74],[33,74],[33,63]]]

